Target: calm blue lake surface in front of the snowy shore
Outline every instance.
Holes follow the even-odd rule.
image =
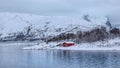
[[[0,45],[0,68],[120,68],[117,51],[22,50]]]

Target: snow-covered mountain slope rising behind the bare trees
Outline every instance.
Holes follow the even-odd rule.
[[[19,13],[0,13],[0,33],[1,37],[10,33],[24,31],[28,26],[32,26],[32,31],[39,37],[54,36],[64,32],[88,31],[98,26],[105,26],[106,17],[97,16],[39,16]]]

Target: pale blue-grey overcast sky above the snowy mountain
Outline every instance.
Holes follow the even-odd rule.
[[[110,16],[118,22],[120,0],[0,0],[0,11],[50,16],[91,14]]]

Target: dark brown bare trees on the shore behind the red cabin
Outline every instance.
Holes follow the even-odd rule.
[[[62,33],[60,35],[48,38],[47,43],[63,40],[72,40],[76,43],[104,41],[105,39],[120,37],[120,29],[112,28],[107,30],[106,27],[95,28],[90,31],[78,31],[77,33]]]

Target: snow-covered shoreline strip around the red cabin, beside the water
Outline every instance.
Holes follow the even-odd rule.
[[[59,42],[61,43],[61,42]],[[115,38],[106,41],[98,41],[93,43],[81,43],[75,44],[70,47],[60,47],[56,46],[58,42],[52,42],[49,44],[39,43],[30,47],[25,47],[23,49],[60,49],[60,50],[120,50],[120,38]]]

